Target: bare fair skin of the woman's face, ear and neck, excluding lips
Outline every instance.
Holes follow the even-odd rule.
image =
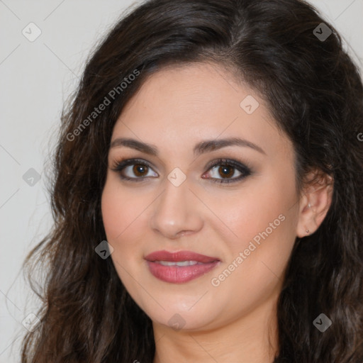
[[[306,229],[315,232],[331,203],[332,183],[324,176],[297,193],[293,145],[259,94],[234,79],[213,63],[160,69],[128,102],[113,129],[111,143],[132,138],[158,152],[119,143],[110,147],[101,203],[118,276],[152,319],[154,363],[273,362],[277,299],[291,250]],[[240,106],[248,95],[259,102],[251,114]],[[263,152],[232,145],[194,155],[197,143],[224,138],[248,140]],[[117,172],[113,166],[121,158],[138,158],[150,167],[135,162]],[[223,166],[208,168],[219,158],[244,164],[251,174],[230,184],[213,183],[243,175],[234,167],[224,169],[227,176]],[[168,179],[175,168],[186,177],[179,186]],[[279,215],[284,221],[213,286],[212,279]],[[147,267],[144,257],[156,250],[191,250],[218,257],[220,264],[197,279],[172,284]]]

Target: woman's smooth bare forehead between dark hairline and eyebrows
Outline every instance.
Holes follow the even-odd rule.
[[[121,136],[165,151],[170,143],[173,150],[184,150],[200,140],[241,137],[264,145],[267,153],[291,152],[264,99],[209,63],[167,67],[148,77],[116,121],[113,139]]]

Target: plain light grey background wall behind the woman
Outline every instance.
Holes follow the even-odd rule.
[[[345,38],[363,74],[363,0],[310,2]],[[138,3],[0,0],[0,363],[20,362],[22,322],[39,304],[21,264],[52,224],[44,169],[63,102],[96,40]],[[41,30],[33,42],[28,38],[37,28],[31,22]]]

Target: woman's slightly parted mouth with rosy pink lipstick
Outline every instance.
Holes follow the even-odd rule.
[[[151,274],[165,282],[183,284],[210,272],[220,264],[218,257],[191,251],[155,251],[145,257]]]

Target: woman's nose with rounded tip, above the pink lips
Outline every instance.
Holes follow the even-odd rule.
[[[160,198],[152,204],[151,228],[165,238],[174,240],[196,233],[203,227],[199,210],[201,203],[189,186],[188,178],[179,186],[167,179]]]

